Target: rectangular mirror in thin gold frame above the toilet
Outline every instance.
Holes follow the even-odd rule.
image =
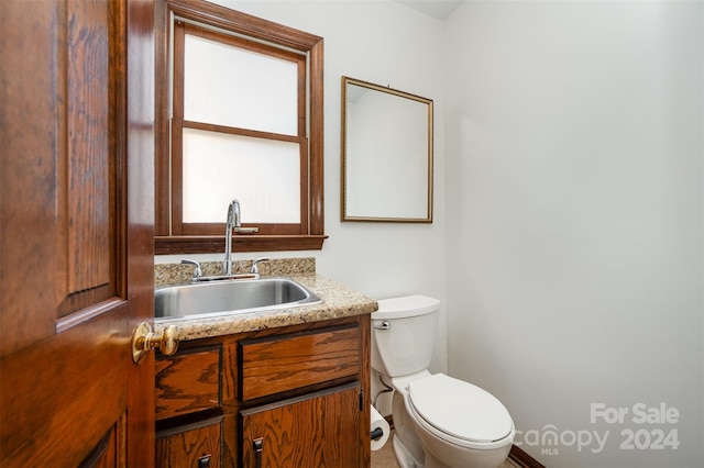
[[[432,222],[432,100],[342,77],[342,221]]]

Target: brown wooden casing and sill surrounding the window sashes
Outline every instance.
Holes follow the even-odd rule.
[[[301,197],[301,226],[277,225],[276,229],[262,229],[265,234],[234,235],[234,252],[276,252],[321,249],[324,239],[324,197],[323,197],[323,40],[282,24],[233,11],[224,7],[201,0],[160,0],[156,2],[156,82],[166,82],[168,76],[168,31],[170,13],[178,18],[195,21],[213,29],[231,31],[243,36],[278,44],[308,54],[310,76],[309,101],[309,142],[304,145],[309,154],[301,152],[308,170],[301,171],[301,185],[308,187],[307,197]],[[170,207],[172,165],[168,145],[168,89],[157,86],[155,89],[156,140],[155,140],[155,254],[220,253],[224,246],[224,223],[204,225],[205,229],[219,230],[222,235],[206,235],[202,231],[183,225],[178,235],[173,227]],[[191,126],[190,123],[185,123]],[[198,125],[197,123],[195,124]],[[305,125],[301,122],[300,125]],[[305,132],[304,132],[305,135]],[[176,169],[177,170],[177,169]],[[304,193],[305,194],[305,193]],[[180,200],[179,200],[180,202]],[[223,215],[224,218],[224,215]],[[176,220],[177,221],[177,220]],[[224,221],[224,219],[223,219]]]

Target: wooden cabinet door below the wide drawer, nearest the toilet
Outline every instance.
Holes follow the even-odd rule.
[[[244,467],[362,466],[359,383],[240,413]]]

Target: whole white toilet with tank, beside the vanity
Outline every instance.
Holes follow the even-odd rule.
[[[394,389],[394,453],[403,468],[492,467],[508,456],[516,430],[487,391],[428,371],[440,301],[378,301],[372,313],[372,368]]]

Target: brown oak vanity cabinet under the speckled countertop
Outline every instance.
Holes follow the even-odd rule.
[[[369,466],[369,366],[370,315],[184,342],[156,361],[156,466]]]

